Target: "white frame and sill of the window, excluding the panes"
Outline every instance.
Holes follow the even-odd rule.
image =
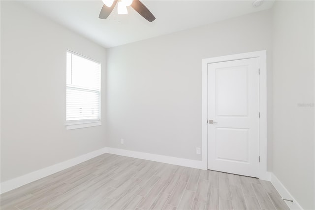
[[[92,88],[82,88],[82,87],[77,87],[75,85],[68,85],[67,84],[67,60],[66,60],[66,78],[65,78],[65,91],[67,91],[68,88],[73,89],[73,90],[85,90],[85,91],[90,91],[90,92],[95,92],[98,93],[98,97],[99,97],[99,102],[98,102],[98,106],[99,106],[99,112],[98,112],[98,119],[83,119],[83,120],[67,120],[66,119],[66,110],[67,110],[67,105],[65,104],[65,124],[64,126],[66,126],[66,130],[72,130],[72,129],[79,129],[79,128],[88,128],[88,127],[93,127],[93,126],[100,126],[102,124],[102,120],[101,120],[101,75],[102,75],[102,65],[99,61],[96,61],[92,58],[89,58],[87,56],[84,56],[82,54],[73,52],[71,50],[66,50],[66,54],[67,53],[71,53],[73,55],[79,56],[81,58],[93,61],[97,64],[99,64],[99,70],[100,70],[100,81],[99,81],[99,91],[97,90],[93,90]],[[65,101],[67,101],[67,97],[65,96]]]

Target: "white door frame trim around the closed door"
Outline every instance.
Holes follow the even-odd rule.
[[[202,59],[202,165],[208,169],[208,64],[258,58],[259,63],[259,178],[270,180],[267,172],[267,51]],[[258,73],[258,70],[257,70]],[[257,113],[258,114],[258,113]]]

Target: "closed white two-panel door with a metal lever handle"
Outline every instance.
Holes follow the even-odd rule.
[[[208,64],[208,169],[259,175],[258,59]]]

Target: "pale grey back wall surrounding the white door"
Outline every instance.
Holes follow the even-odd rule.
[[[271,151],[271,11],[108,49],[106,145],[201,160],[202,59],[267,50]],[[120,144],[120,139],[125,144]],[[268,168],[271,169],[271,153]]]

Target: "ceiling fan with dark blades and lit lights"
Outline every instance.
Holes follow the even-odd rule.
[[[150,10],[140,0],[103,0],[103,3],[104,5],[98,16],[100,19],[106,19],[113,11],[117,3],[118,14],[127,14],[127,6],[131,6],[149,22],[152,22],[156,19]]]

